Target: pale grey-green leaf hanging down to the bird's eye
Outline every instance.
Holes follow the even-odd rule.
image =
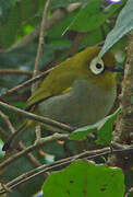
[[[99,53],[99,57],[112,47],[119,39],[133,30],[133,0],[128,0],[120,12],[113,30],[108,34],[105,45]]]

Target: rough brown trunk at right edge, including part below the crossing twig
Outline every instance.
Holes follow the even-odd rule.
[[[116,123],[116,130],[113,132],[113,141],[121,144],[132,143],[133,130],[133,31],[129,35],[128,55],[124,68],[124,78],[122,81],[122,91],[120,95],[121,112]],[[119,166],[123,171],[132,167],[132,155],[126,155],[126,159],[121,154],[110,155],[109,163],[113,166]]]

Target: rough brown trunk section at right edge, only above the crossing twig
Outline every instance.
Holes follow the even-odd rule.
[[[116,141],[126,143],[132,140],[131,132],[133,130],[133,31],[129,35],[128,57],[120,99],[121,113],[116,126]]]

